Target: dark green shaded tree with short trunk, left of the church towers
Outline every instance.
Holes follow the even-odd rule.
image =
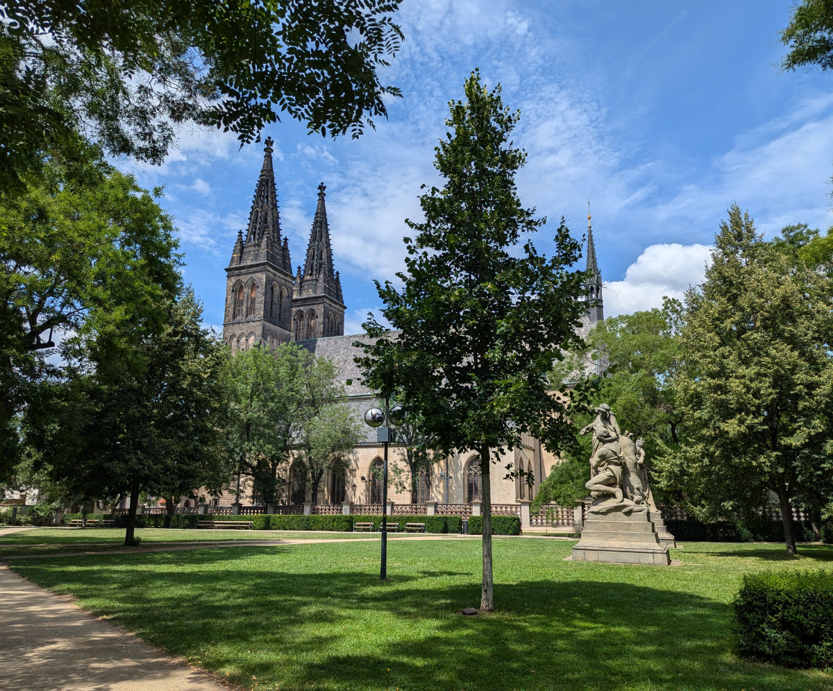
[[[217,411],[222,343],[202,328],[191,290],[170,296],[146,320],[114,331],[97,324],[67,347],[77,360],[65,382],[45,382],[25,430],[52,480],[72,495],[130,495],[125,544],[134,544],[139,495],[182,495],[221,485]],[[123,326],[123,325],[122,325]],[[45,424],[45,420],[49,420]]]

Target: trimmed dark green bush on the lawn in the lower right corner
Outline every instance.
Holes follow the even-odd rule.
[[[733,604],[741,655],[786,667],[833,667],[833,574],[746,575]]]

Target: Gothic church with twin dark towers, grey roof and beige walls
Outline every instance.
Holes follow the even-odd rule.
[[[315,214],[307,242],[307,256],[302,266],[292,273],[289,244],[281,234],[281,219],[277,206],[275,175],[272,169],[272,139],[267,139],[260,176],[257,178],[252,210],[247,231],[238,231],[232,258],[226,268],[226,309],[222,340],[232,355],[254,346],[274,348],[282,343],[297,342],[317,357],[332,360],[346,385],[347,404],[362,420],[365,410],[377,405],[373,392],[359,384],[361,375],[353,357],[358,354],[352,346],[361,334],[344,335],[346,306],[342,284],[335,271],[327,221],[326,186],[318,186]],[[590,215],[587,216],[587,300],[589,308],[581,326],[586,334],[604,319],[602,306],[601,272],[596,264]],[[340,473],[329,473],[322,478],[318,492],[319,505],[341,505],[350,501],[355,505],[382,504],[382,444],[376,430],[362,425],[364,438],[355,447],[352,463]],[[556,463],[541,443],[525,436],[521,446],[504,453],[506,463],[523,469],[535,478],[531,487],[526,480],[504,480],[501,473],[491,473],[491,500],[496,506],[508,508],[523,500],[534,498],[537,488]],[[407,480],[407,465],[401,451],[392,445],[391,465],[399,461]],[[504,464],[505,465],[505,464]],[[286,503],[299,505],[310,500],[306,474],[295,465],[287,468]],[[410,482],[407,482],[410,485]],[[468,513],[481,498],[480,457],[474,453],[454,454],[423,472],[418,479],[416,504],[412,513],[425,513],[426,502],[461,507]],[[388,485],[388,497],[396,505],[412,503],[409,491],[397,491]],[[230,505],[232,496],[223,497],[219,505]],[[243,497],[243,504],[255,503]]]

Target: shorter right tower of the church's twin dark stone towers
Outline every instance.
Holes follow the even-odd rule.
[[[295,276],[292,296],[292,340],[344,335],[344,299],[338,271],[332,270],[330,226],[324,203],[322,182],[318,186],[318,206],[312,220],[312,231],[307,245],[307,260]]]

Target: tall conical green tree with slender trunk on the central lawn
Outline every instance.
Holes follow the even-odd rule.
[[[380,370],[392,373],[408,414],[422,420],[438,449],[480,454],[481,609],[490,611],[490,461],[504,460],[501,450],[514,449],[523,434],[551,450],[570,436],[546,373],[578,339],[585,306],[583,275],[568,268],[580,246],[563,221],[552,258],[528,240],[517,247],[544,223],[516,194],[515,174],[526,159],[509,141],[518,114],[504,107],[500,87],[483,86],[478,72],[466,80],[465,93],[465,102],[449,104],[451,132],[436,147],[444,186],[421,196],[424,222],[406,221],[416,236],[405,238],[402,290],[377,283],[382,314],[397,337],[382,338],[384,330],[369,321],[371,341],[359,363],[371,382]]]

